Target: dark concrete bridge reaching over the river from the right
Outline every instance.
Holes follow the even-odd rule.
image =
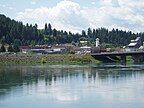
[[[126,57],[131,56],[134,63],[144,62],[144,51],[134,51],[134,52],[103,52],[103,53],[93,53],[91,54],[95,59],[102,61],[104,63],[108,62],[121,62],[126,63]]]

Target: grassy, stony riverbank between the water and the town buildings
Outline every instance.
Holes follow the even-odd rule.
[[[0,64],[91,64],[91,55],[75,54],[1,54]]]

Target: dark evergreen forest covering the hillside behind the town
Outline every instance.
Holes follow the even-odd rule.
[[[0,14],[0,44],[1,45],[53,45],[66,44],[80,45],[80,41],[88,41],[88,45],[94,45],[95,39],[99,38],[102,45],[124,46],[128,45],[131,39],[141,37],[143,33],[133,33],[113,28],[109,31],[106,28],[88,28],[81,33],[57,30],[49,23],[45,23],[43,29],[38,25],[26,24],[15,21]]]

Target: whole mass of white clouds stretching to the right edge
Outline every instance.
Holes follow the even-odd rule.
[[[92,3],[94,4],[94,2]],[[16,17],[28,23],[51,23],[54,28],[72,32],[86,30],[88,27],[119,28],[143,32],[144,3],[142,0],[103,0],[99,8],[82,7],[72,1],[61,1],[48,8],[26,9]]]

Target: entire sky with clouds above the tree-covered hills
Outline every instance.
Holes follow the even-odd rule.
[[[144,0],[0,0],[0,14],[73,33],[105,27],[144,32]]]

